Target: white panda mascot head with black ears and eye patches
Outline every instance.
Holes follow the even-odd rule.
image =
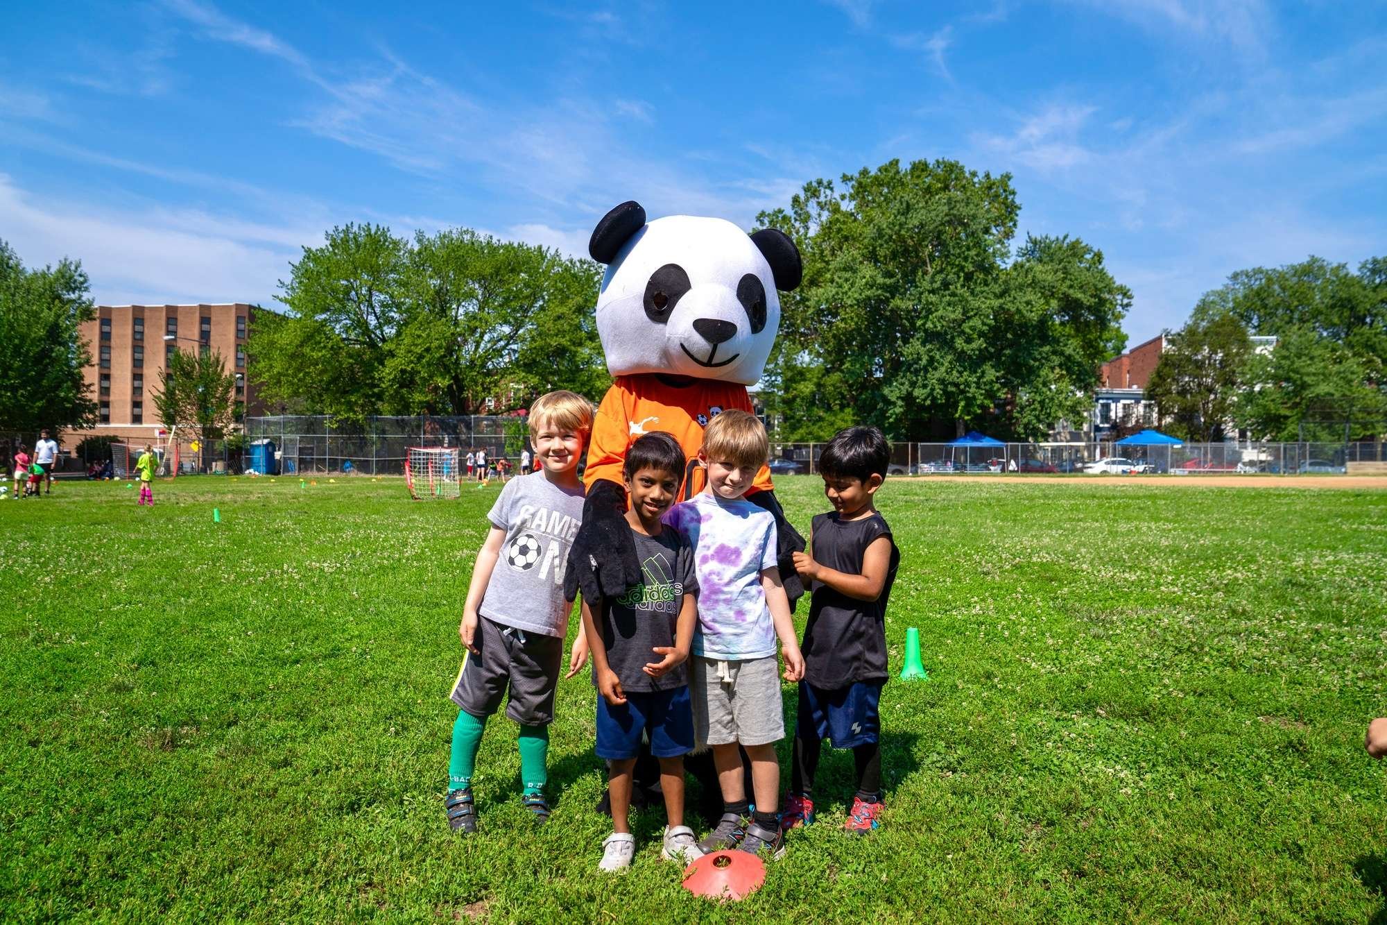
[[[799,285],[795,243],[721,218],[608,212],[588,243],[606,264],[596,319],[613,376],[663,372],[753,385],[779,328],[777,289]]]

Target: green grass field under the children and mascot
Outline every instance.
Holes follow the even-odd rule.
[[[0,504],[6,919],[1383,917],[1387,767],[1362,739],[1387,711],[1387,492],[888,482],[892,665],[918,626],[931,679],[882,697],[884,829],[838,831],[852,761],[825,750],[820,824],[727,908],[659,861],[655,812],[631,872],[596,872],[585,672],[559,689],[549,825],[502,717],[483,832],[449,833],[447,690],[495,486],[155,492]],[[779,493],[802,528],[825,507],[818,479]]]

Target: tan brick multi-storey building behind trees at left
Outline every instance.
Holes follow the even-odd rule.
[[[245,376],[245,335],[254,312],[244,303],[97,306],[97,317],[80,328],[92,350],[85,376],[97,401],[97,426],[67,432],[64,451],[87,436],[158,443],[154,392],[175,350],[221,351],[236,375],[236,400],[245,403],[245,414],[262,414]]]

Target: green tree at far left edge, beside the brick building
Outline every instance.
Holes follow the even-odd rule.
[[[0,240],[0,431],[87,428],[97,406],[79,325],[96,317],[79,261],[26,269]]]

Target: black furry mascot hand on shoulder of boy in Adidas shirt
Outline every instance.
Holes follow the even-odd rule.
[[[616,482],[598,479],[583,503],[583,525],[569,547],[569,567],[563,572],[566,600],[583,592],[583,600],[596,604],[603,597],[619,597],[627,588],[641,583],[641,562],[635,558],[635,540],[626,522],[626,489]]]

